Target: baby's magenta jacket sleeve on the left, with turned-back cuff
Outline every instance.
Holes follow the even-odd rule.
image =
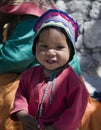
[[[27,77],[27,74],[24,72],[22,74],[19,87],[16,91],[13,108],[10,113],[10,118],[15,121],[18,120],[16,116],[16,112],[20,110],[24,110],[28,112],[28,90],[26,87],[28,86],[28,81],[26,77]]]

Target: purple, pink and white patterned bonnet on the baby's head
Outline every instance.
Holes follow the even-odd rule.
[[[46,11],[34,25],[36,36],[47,26],[56,26],[63,28],[73,45],[78,37],[78,24],[65,12],[56,9]],[[35,37],[36,37],[35,36]]]

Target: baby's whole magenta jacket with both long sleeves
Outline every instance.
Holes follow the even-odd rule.
[[[48,78],[45,78],[41,66],[25,71],[16,93],[11,119],[18,120],[15,113],[25,110],[41,124],[52,124],[57,130],[76,130],[88,102],[83,82],[70,66],[57,74],[52,102],[49,99],[53,81],[43,104],[42,117],[39,118],[39,106],[47,83]]]

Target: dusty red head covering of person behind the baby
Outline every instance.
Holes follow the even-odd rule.
[[[1,0],[0,12],[10,14],[42,15],[46,10],[55,8],[53,0]]]

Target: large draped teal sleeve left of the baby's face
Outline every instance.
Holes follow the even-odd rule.
[[[24,16],[9,40],[0,43],[0,73],[23,72],[37,64],[32,54],[35,21],[34,16]]]

